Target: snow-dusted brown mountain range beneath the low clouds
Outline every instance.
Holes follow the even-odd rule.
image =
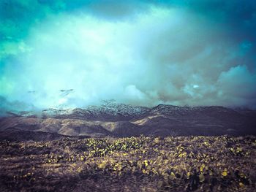
[[[9,112],[0,118],[0,132],[29,131],[75,137],[218,136],[256,134],[255,110],[226,107],[134,107],[105,101],[83,109]],[[31,136],[33,137],[33,136]],[[38,136],[35,136],[37,138]],[[42,137],[43,136],[42,134]],[[51,136],[48,136],[51,137]]]

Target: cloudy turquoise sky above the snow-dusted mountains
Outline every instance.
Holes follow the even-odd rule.
[[[255,109],[255,30],[254,0],[0,0],[0,108]]]

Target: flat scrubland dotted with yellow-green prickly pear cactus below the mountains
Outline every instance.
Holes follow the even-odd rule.
[[[4,140],[0,191],[256,191],[256,137]]]

